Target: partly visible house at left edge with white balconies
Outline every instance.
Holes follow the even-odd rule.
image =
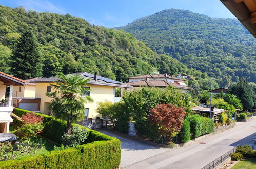
[[[0,72],[0,133],[8,133],[11,118],[13,86],[23,86],[25,81]],[[6,87],[10,86],[9,98],[6,97]]]

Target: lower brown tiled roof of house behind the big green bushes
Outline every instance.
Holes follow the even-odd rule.
[[[174,86],[175,88],[180,88],[180,89],[189,89],[191,90],[192,88],[185,86],[185,85],[179,85],[177,83],[172,83],[170,81],[165,81],[165,80],[141,80],[141,81],[133,81],[127,83],[128,85],[138,87],[138,86],[148,86],[148,87],[167,87],[167,86]]]

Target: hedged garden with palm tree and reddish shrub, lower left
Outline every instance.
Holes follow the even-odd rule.
[[[52,98],[49,109],[54,117],[14,109],[13,113],[22,119],[14,118],[17,128],[12,126],[19,139],[15,145],[0,145],[0,168],[119,167],[121,143],[118,139],[75,124],[83,118],[84,104],[93,101],[90,97],[81,97],[87,90],[83,86],[88,79],[64,74],[58,77],[62,82],[52,84],[55,90],[46,94]],[[50,148],[49,142],[53,143]]]

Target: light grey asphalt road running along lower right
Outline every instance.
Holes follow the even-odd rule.
[[[254,144],[256,147],[252,141],[254,135],[256,117],[248,122],[238,122],[234,128],[210,135],[186,147],[172,149],[136,162],[127,168],[202,168],[237,145]]]

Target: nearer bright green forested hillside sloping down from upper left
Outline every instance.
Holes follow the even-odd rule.
[[[26,30],[31,30],[38,41],[43,57],[43,77],[59,72],[97,72],[126,81],[127,77],[158,70],[207,78],[205,73],[188,69],[176,59],[153,52],[122,30],[91,25],[69,14],[38,13],[5,6],[0,6],[0,71],[11,73],[13,51]]]

